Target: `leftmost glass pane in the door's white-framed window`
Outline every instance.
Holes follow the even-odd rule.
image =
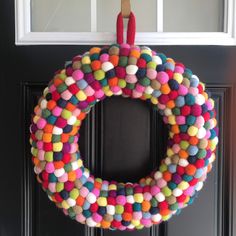
[[[33,32],[91,31],[89,0],[31,0]]]

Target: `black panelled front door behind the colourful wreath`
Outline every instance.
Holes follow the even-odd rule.
[[[14,2],[1,9],[1,236],[233,236],[233,83],[235,47],[152,47],[183,61],[207,84],[216,101],[220,143],[214,170],[195,203],[168,223],[135,232],[90,229],[70,220],[36,182],[29,124],[33,107],[53,72],[89,46],[15,46]],[[233,126],[234,125],[234,126]],[[82,128],[85,164],[102,178],[137,181],[159,165],[166,128],[148,104],[113,97],[96,105]],[[235,173],[235,171],[234,171]]]

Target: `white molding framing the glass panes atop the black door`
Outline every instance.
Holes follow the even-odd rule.
[[[163,0],[157,1],[160,5],[163,4]],[[138,32],[135,43],[139,45],[236,45],[236,0],[225,1],[227,6],[225,10],[227,24],[224,24],[224,27],[227,26],[225,29],[227,32],[225,33]],[[96,4],[96,0],[91,2]],[[91,9],[91,12],[94,12],[94,9]],[[115,34],[110,32],[31,32],[30,13],[30,0],[15,0],[16,45],[104,45],[115,42]],[[94,23],[95,20],[92,22],[91,19],[91,30],[96,31]],[[158,27],[161,31],[161,23]]]

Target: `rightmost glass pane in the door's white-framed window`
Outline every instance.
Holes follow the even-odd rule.
[[[223,32],[224,0],[164,0],[165,32]]]

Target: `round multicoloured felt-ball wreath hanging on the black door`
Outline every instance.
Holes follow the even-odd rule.
[[[73,58],[44,90],[30,126],[35,173],[51,201],[90,227],[134,230],[191,204],[215,160],[214,101],[198,77],[148,47],[114,44]],[[148,100],[169,128],[160,167],[138,183],[95,178],[83,166],[79,129],[112,95]]]

